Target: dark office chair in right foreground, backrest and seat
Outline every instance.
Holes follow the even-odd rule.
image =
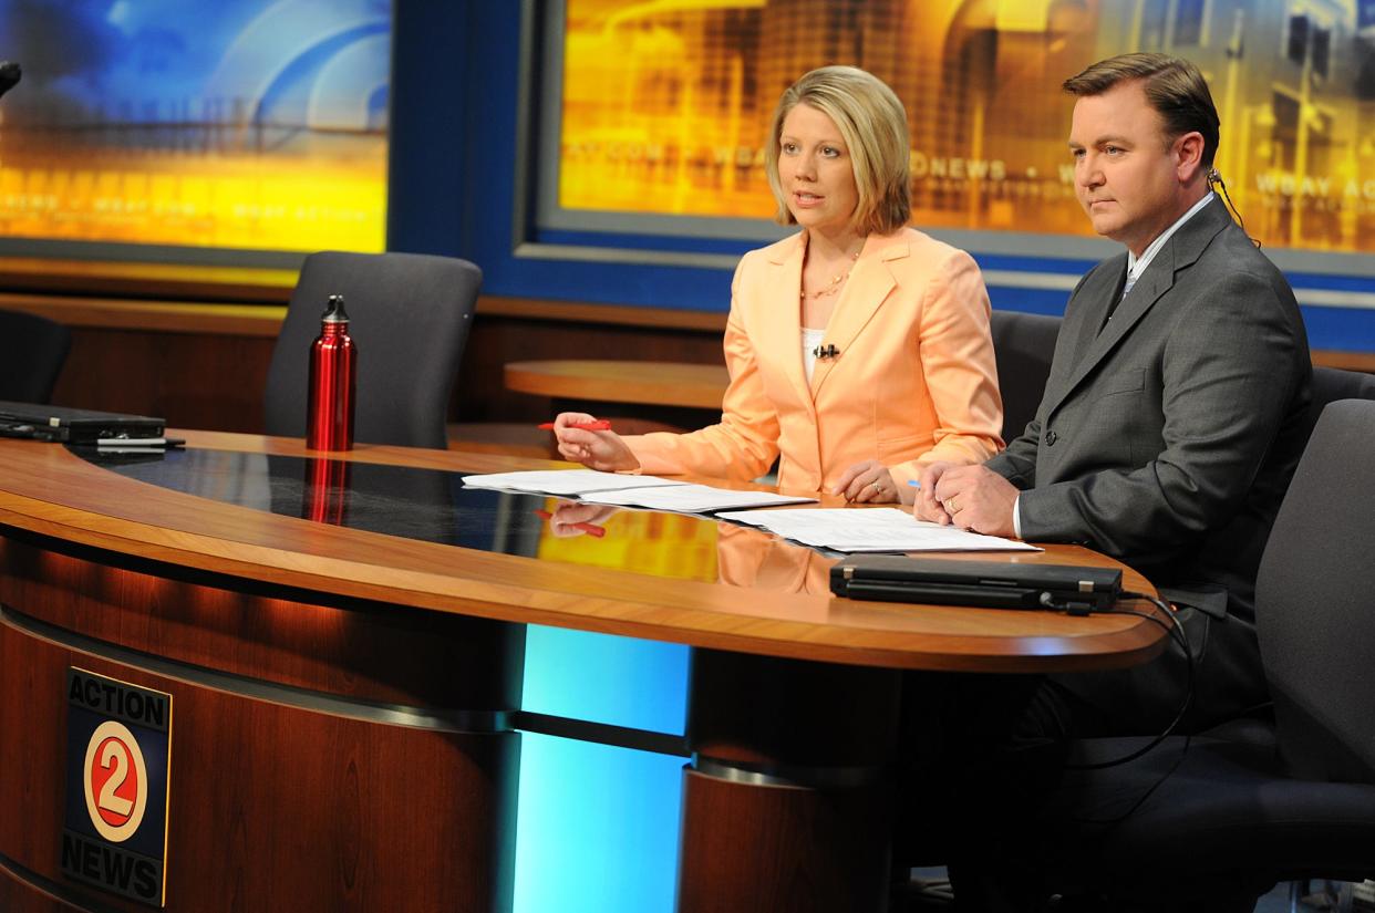
[[[1276,881],[1375,877],[1371,440],[1375,402],[1327,407],[1265,549],[1255,610],[1272,733],[1255,737],[1253,720],[1067,773],[1019,866],[1070,898],[1060,909],[1248,912]],[[1072,762],[1138,744],[1078,741]]]

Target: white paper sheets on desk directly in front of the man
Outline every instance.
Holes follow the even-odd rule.
[[[832,551],[1041,551],[1015,539],[923,522],[895,507],[800,507],[719,513],[716,517],[748,522],[785,539]]]

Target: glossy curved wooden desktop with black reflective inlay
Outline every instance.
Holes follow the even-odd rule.
[[[459,481],[556,465],[544,461],[377,446],[320,461],[300,440],[177,433],[187,451],[165,459],[0,440],[0,525],[330,595],[844,664],[1081,670],[1160,649],[1158,626],[1125,615],[835,598],[825,571],[836,558],[711,518],[627,512],[604,538],[562,547],[535,513],[551,499]],[[342,463],[346,499],[322,505],[312,480],[340,481]],[[322,507],[348,525],[302,518]],[[645,535],[664,524],[678,535]],[[685,542],[714,544],[715,561],[676,560]],[[1074,546],[1005,560],[1119,566]],[[1123,584],[1154,593],[1130,569]]]

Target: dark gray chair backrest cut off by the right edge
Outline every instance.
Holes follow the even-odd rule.
[[[1372,440],[1375,402],[1323,411],[1255,584],[1280,756],[1305,780],[1375,782]]]

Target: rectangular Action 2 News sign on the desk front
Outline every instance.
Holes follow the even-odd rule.
[[[63,873],[164,906],[170,755],[170,694],[67,670]]]

